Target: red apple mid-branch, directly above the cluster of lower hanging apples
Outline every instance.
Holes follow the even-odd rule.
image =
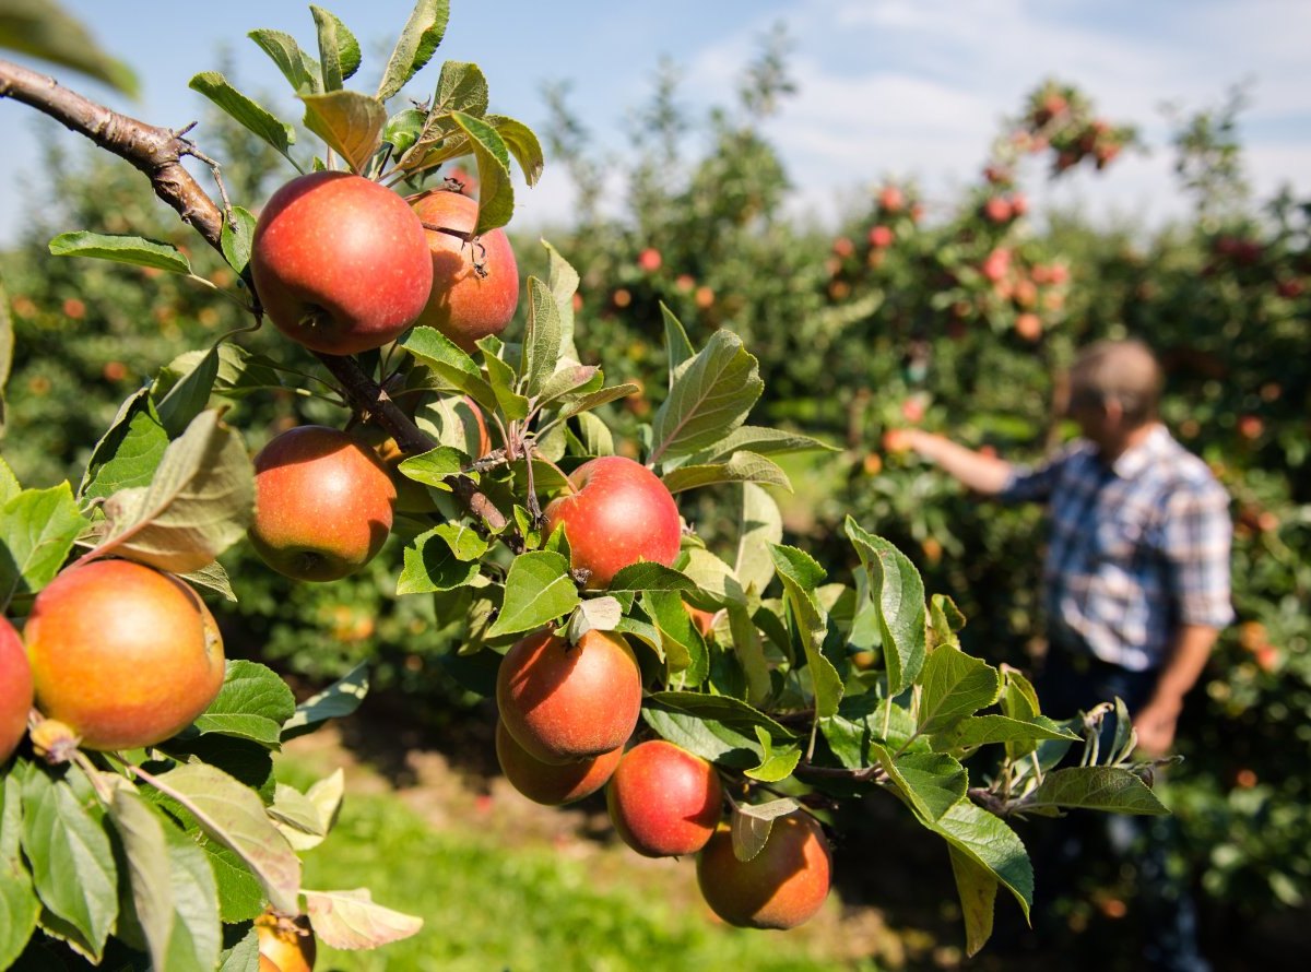
[[[547,533],[564,524],[574,570],[589,570],[587,587],[600,589],[638,561],[666,567],[683,536],[678,504],[650,469],[624,456],[600,456],[569,476],[574,491],[543,511]]]

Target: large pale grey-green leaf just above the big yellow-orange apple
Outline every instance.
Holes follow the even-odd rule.
[[[98,555],[128,557],[174,574],[211,563],[245,536],[254,516],[254,469],[241,439],[201,413],[172,441],[147,487],[105,500]]]

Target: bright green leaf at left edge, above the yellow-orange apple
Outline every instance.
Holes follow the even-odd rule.
[[[0,507],[0,609],[49,584],[85,527],[67,482],[22,490]]]

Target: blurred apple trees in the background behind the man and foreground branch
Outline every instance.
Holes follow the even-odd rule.
[[[785,542],[810,551],[831,576],[847,574],[859,567],[843,527],[853,517],[909,555],[928,591],[956,601],[969,618],[960,633],[964,647],[1025,671],[1044,650],[1034,599],[1037,512],[977,504],[940,474],[882,455],[881,435],[916,423],[991,445],[1008,458],[1033,458],[1068,434],[1047,417],[1059,392],[1055,376],[1076,347],[1120,335],[1142,337],[1155,347],[1169,380],[1167,421],[1234,496],[1239,612],[1190,698],[1180,730],[1184,762],[1158,790],[1189,834],[1189,853],[1179,863],[1194,869],[1205,937],[1217,960],[1235,968],[1252,955],[1280,962],[1307,943],[1311,887],[1311,567],[1304,563],[1311,529],[1311,365],[1304,355],[1311,204],[1287,194],[1253,198],[1247,190],[1235,135],[1242,102],[1234,100],[1180,119],[1173,144],[1152,147],[1176,155],[1179,178],[1194,203],[1189,217],[1148,232],[1127,224],[1106,229],[1075,212],[1034,211],[1027,204],[1034,183],[1082,168],[1097,168],[1113,182],[1117,157],[1141,147],[1135,132],[1099,114],[1096,92],[1076,81],[1034,79],[1032,94],[1015,106],[995,143],[979,145],[977,182],[957,195],[924,196],[914,173],[876,179],[861,187],[861,204],[836,228],[788,215],[789,179],[798,176],[784,170],[762,134],[792,90],[780,46],[762,45],[738,97],[709,118],[680,115],[673,79],[657,84],[640,115],[646,121],[635,132],[629,157],[641,161],[625,173],[628,196],[617,215],[587,204],[599,196],[614,161],[590,153],[568,97],[553,92],[552,122],[539,134],[548,164],[569,169],[583,204],[576,221],[543,236],[581,274],[576,314],[586,333],[586,343],[579,341],[583,363],[603,358],[612,383],[641,385],[640,394],[606,411],[620,451],[640,441],[640,423],[663,402],[663,381],[652,380],[666,355],[662,305],[683,322],[694,346],[730,330],[758,358],[764,381],[753,422],[836,447],[780,460],[792,487],[791,494],[777,491]],[[673,135],[683,126],[703,127],[708,148],[675,151]],[[262,200],[284,181],[273,149],[223,115],[207,115],[199,131],[206,152],[223,160],[235,199]],[[161,364],[245,324],[237,308],[189,280],[52,257],[50,240],[71,228],[130,232],[181,248],[195,272],[216,287],[235,284],[231,267],[197,245],[138,173],[104,152],[62,144],[49,143],[39,174],[58,206],[33,214],[3,263],[13,330],[3,455],[25,486],[76,482],[89,448],[127,394]],[[476,193],[476,170],[471,161],[464,165],[458,178]],[[898,166],[882,160],[878,168]],[[513,223],[509,229],[526,290],[528,275],[549,272],[547,254],[536,236],[515,234]],[[510,334],[522,331],[522,314]],[[279,342],[265,327],[244,346],[274,354],[284,350]],[[589,348],[602,355],[589,362]],[[235,401],[229,419],[271,438],[292,424],[333,422],[336,414],[284,389]],[[258,434],[250,439],[252,447],[262,444]],[[722,495],[704,491],[688,499],[683,515],[699,533],[711,541],[732,536],[734,512]],[[480,781],[496,776],[494,714],[488,718],[488,701],[468,688],[476,679],[455,655],[464,627],[440,617],[430,600],[393,596],[400,562],[397,550],[384,551],[361,574],[309,586],[265,570],[249,548],[235,546],[223,565],[229,576],[241,578],[241,599],[212,605],[229,658],[274,667],[299,698],[367,663],[370,697],[343,726],[355,758],[404,789],[416,772],[404,751],[437,749],[468,774],[475,790],[485,790],[489,783]],[[853,655],[856,664],[859,658]],[[307,751],[299,758],[312,764],[321,753]],[[304,772],[308,779],[308,770],[284,772]],[[455,806],[469,816],[485,808],[477,802]],[[589,806],[590,816],[576,817],[578,832],[570,840],[614,842],[595,824],[597,807],[583,804],[585,811]],[[442,840],[440,828],[434,836],[400,804],[379,803],[376,815],[351,833],[371,850],[382,845],[355,858],[357,871],[376,866],[384,872],[410,853],[396,833],[420,844]],[[901,931],[901,941],[872,943],[863,956],[825,952],[821,942],[814,960],[960,960],[945,859],[926,865],[912,842],[898,836],[907,825],[885,819],[877,807],[853,816],[859,819],[847,821],[839,854],[863,866],[839,872],[842,907],[853,921],[874,909],[891,929],[884,937]],[[454,825],[456,833],[459,828]],[[343,855],[359,853],[341,846]],[[532,848],[510,858],[497,858],[485,845],[463,854],[446,848],[440,859],[451,858],[471,872],[494,871],[507,887],[557,880],[558,896],[515,899],[515,907],[544,910],[574,935],[595,926],[620,935],[614,920],[598,916],[642,910],[632,901],[579,895],[578,872]],[[380,887],[385,876],[359,880]],[[458,886],[463,878],[446,880]],[[625,880],[616,878],[615,886]],[[1103,872],[1088,862],[1084,882],[1087,887],[1051,889],[1067,899],[1065,947],[1130,962],[1137,931],[1124,916],[1126,905],[1131,914],[1133,875]],[[406,904],[404,888],[389,897]],[[569,900],[568,909],[561,899]],[[498,907],[486,904],[489,910]],[[427,920],[443,924],[440,914]],[[770,967],[759,944],[707,944],[678,931],[680,922],[700,929],[704,921],[690,904],[687,914],[667,920],[667,927],[657,922],[648,939],[631,942],[611,960],[637,967],[667,959],[679,967],[686,962],[670,956],[703,948],[709,950],[705,962]],[[439,943],[440,934],[438,927],[430,941]],[[759,951],[713,951],[734,947]],[[384,948],[372,960],[387,956]],[[409,967],[400,964],[401,952],[391,956],[397,967]],[[343,968],[354,960],[370,959],[332,959]],[[468,960],[479,968],[502,959],[486,958],[482,965],[477,956]],[[996,959],[985,952],[975,962],[990,960]]]

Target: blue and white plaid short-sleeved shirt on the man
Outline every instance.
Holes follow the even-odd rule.
[[[999,499],[1047,503],[1042,578],[1054,643],[1148,671],[1180,625],[1234,620],[1228,494],[1164,426],[1110,466],[1076,440],[1016,469]]]

